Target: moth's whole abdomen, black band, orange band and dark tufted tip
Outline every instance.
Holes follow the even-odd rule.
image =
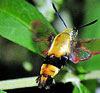
[[[65,65],[65,60],[67,60],[67,56],[57,58],[51,55],[45,58],[44,64],[41,66],[40,76],[37,79],[39,88],[49,89],[55,83],[53,78]]]

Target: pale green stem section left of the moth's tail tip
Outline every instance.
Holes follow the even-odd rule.
[[[36,78],[37,77],[35,76],[35,77],[20,78],[20,79],[13,79],[13,80],[3,80],[0,81],[0,89],[9,90],[9,89],[37,86]]]

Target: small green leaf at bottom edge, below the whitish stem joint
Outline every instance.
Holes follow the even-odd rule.
[[[74,85],[73,93],[90,93],[89,90],[81,83],[79,88],[75,84],[73,85]]]

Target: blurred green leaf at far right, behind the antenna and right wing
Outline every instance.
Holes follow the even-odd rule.
[[[100,1],[99,0],[85,0],[85,14],[84,14],[84,23],[92,22],[93,20],[98,19],[97,23],[84,27],[81,29],[80,38],[90,39],[90,38],[100,38]],[[92,44],[91,47],[96,47],[95,44]],[[81,65],[86,71],[100,70],[100,55],[93,56],[91,59],[85,62],[80,62],[78,65]]]

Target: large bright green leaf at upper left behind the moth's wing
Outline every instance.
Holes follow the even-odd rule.
[[[0,36],[40,54],[31,35],[30,23],[36,20],[54,32],[42,14],[25,0],[0,0]]]

